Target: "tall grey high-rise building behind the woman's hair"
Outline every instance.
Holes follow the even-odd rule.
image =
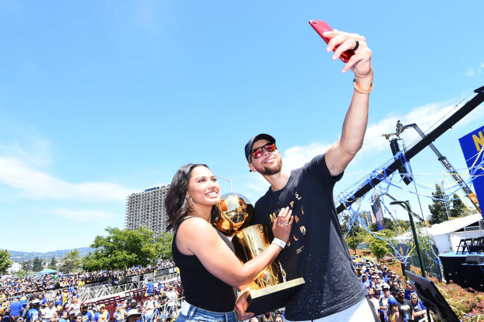
[[[168,225],[165,197],[169,184],[157,185],[126,197],[125,228],[130,230],[145,226],[157,238]]]

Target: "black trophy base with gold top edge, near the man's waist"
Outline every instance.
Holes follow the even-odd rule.
[[[304,283],[304,278],[299,277],[260,290],[250,291],[245,311],[253,312],[257,316],[282,308]]]

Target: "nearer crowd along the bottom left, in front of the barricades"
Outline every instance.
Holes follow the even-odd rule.
[[[162,284],[148,280],[144,300],[128,297],[116,303],[115,311],[110,313],[102,301],[80,301],[77,290],[71,287],[58,290],[53,298],[46,298],[44,291],[26,303],[22,297],[11,303],[4,297],[0,322],[134,322],[139,318],[144,322],[162,322],[178,315],[181,297],[179,282]]]

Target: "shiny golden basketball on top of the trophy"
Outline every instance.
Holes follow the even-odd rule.
[[[249,225],[254,206],[247,197],[230,192],[220,197],[220,220],[215,227],[226,236],[233,236]]]

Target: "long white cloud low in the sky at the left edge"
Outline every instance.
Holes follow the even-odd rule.
[[[0,157],[0,183],[24,198],[124,201],[132,190],[107,182],[69,183],[26,165],[16,157]]]

